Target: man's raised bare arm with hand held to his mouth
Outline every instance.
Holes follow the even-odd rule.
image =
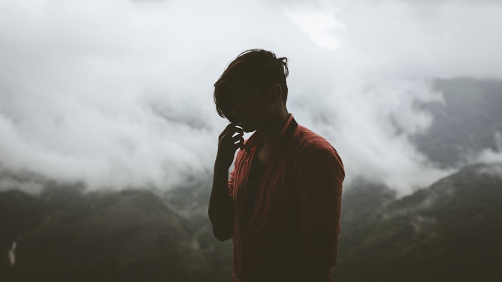
[[[242,134],[241,128],[230,123],[219,136],[208,214],[213,234],[220,241],[233,236],[233,203],[229,194],[228,169],[235,150],[244,142]]]

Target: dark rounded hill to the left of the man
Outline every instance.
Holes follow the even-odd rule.
[[[220,281],[231,274],[231,261],[226,268],[214,265],[222,259],[218,251],[203,245],[208,236],[199,232],[194,240],[193,230],[200,228],[150,191],[82,193],[78,186],[52,187],[37,197],[2,192],[0,204],[10,214],[0,217],[2,253],[17,243],[14,265],[2,261],[2,281],[197,281],[201,277]]]

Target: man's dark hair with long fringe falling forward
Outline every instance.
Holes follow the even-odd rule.
[[[239,54],[214,84],[214,103],[218,115],[231,120],[232,93],[239,88],[265,90],[277,83],[282,89],[284,103],[288,98],[286,77],[288,59],[263,49],[250,49]]]

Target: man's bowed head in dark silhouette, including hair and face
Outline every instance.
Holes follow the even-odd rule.
[[[287,63],[287,58],[262,49],[241,53],[214,84],[218,114],[231,122],[251,123],[249,130],[256,129],[258,119],[286,105]]]

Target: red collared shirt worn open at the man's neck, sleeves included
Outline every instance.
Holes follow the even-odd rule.
[[[259,132],[246,140],[230,173],[232,281],[333,281],[345,176],[338,153],[290,115],[269,156],[254,210],[243,226],[245,185],[261,142]]]

